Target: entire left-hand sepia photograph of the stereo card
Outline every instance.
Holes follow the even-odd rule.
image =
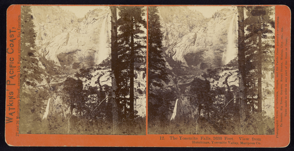
[[[21,6],[20,134],[146,135],[144,6]]]

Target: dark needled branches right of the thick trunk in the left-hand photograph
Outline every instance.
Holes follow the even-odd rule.
[[[135,71],[141,72],[142,64],[146,64],[146,36],[142,26],[146,28],[144,7],[120,6],[118,31],[118,71],[117,83],[118,94],[120,94],[120,108],[123,112],[121,118],[134,116],[133,102]],[[146,68],[143,68],[146,71]],[[129,97],[127,97],[129,95]],[[129,114],[129,115],[127,115]],[[131,117],[132,118],[132,117]]]

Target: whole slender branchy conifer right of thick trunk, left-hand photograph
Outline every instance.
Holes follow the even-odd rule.
[[[119,60],[121,60],[121,71],[128,71],[129,77],[129,113],[134,116],[134,70],[140,70],[135,67],[135,63],[145,62],[146,36],[143,36],[143,26],[147,24],[142,16],[145,15],[143,6],[121,6],[118,15],[119,31],[118,44],[120,45]],[[121,72],[122,73],[122,72]]]

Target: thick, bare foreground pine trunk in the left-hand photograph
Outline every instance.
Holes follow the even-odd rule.
[[[111,9],[111,89],[112,89],[112,124],[113,124],[113,134],[118,133],[118,86],[117,80],[117,19],[116,19],[116,6],[110,6]]]

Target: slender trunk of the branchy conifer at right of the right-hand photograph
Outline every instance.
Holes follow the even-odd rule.
[[[261,76],[262,76],[262,49],[261,49],[261,16],[258,16],[258,69],[257,69],[257,112],[259,120],[262,121],[262,97],[261,97]],[[263,125],[260,123],[258,134],[263,134]]]

